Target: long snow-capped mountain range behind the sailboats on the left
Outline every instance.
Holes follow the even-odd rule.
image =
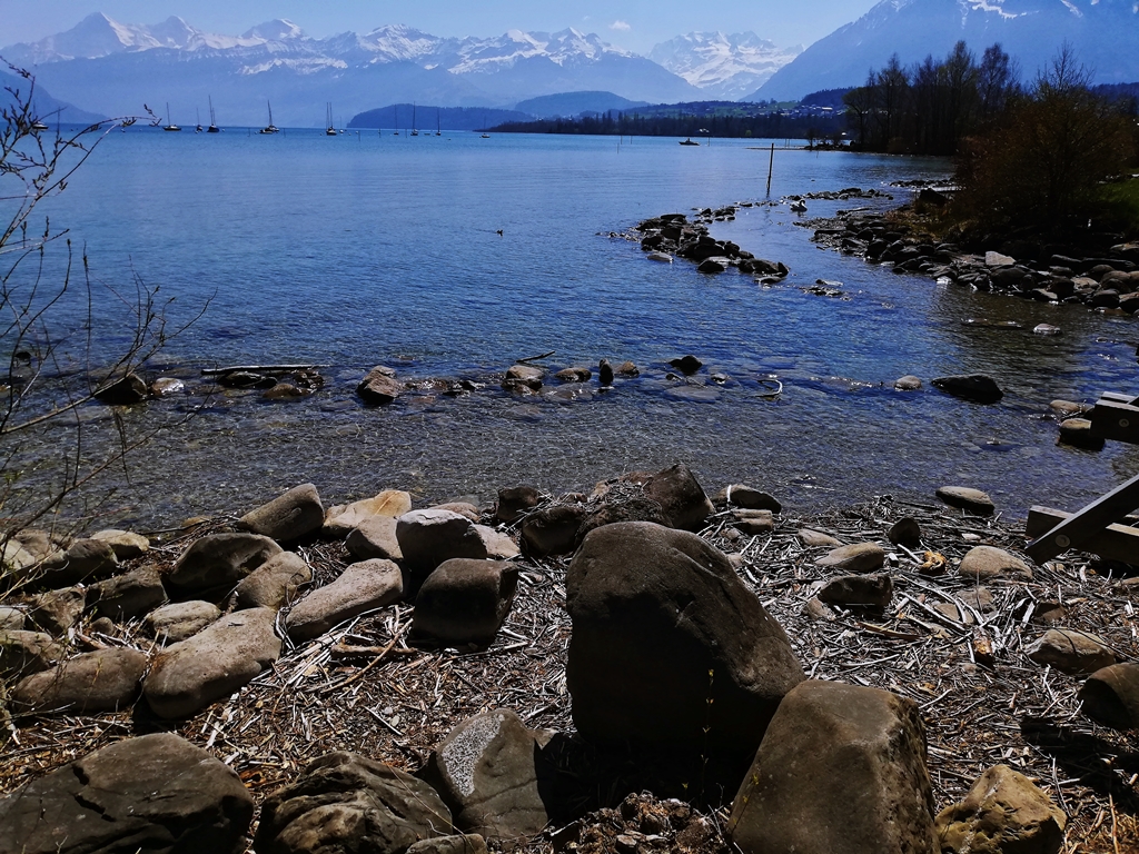
[[[230,36],[177,17],[141,26],[97,14],[0,56],[34,68],[59,97],[88,108],[124,115],[169,101],[173,112],[186,110],[183,124],[207,95],[222,122],[263,123],[270,100],[278,124],[300,125],[323,121],[329,100],[352,115],[392,101],[511,106],[573,91],[652,102],[707,97],[656,63],[576,30],[444,39],[388,25],[313,39],[278,19]]]

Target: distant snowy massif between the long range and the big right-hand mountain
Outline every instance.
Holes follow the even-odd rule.
[[[779,48],[751,32],[716,32],[678,35],[653,48],[648,58],[703,89],[706,97],[737,100],[802,52],[802,44]]]

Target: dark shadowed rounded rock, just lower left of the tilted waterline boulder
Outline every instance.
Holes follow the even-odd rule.
[[[260,534],[211,534],[190,545],[163,580],[171,599],[222,599],[281,547]]]

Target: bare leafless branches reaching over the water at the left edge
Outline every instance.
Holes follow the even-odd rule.
[[[0,91],[0,205],[10,212],[0,221],[0,352],[9,359],[0,386],[0,552],[5,555],[0,577],[16,534],[58,512],[68,496],[122,465],[161,429],[130,429],[115,411],[114,441],[91,446],[81,410],[180,331],[167,329],[157,288],[147,287],[137,274],[125,294],[96,288],[87,254],[81,251],[75,257],[67,231],[47,217],[42,227],[33,220],[40,203],[66,189],[110,129],[134,120],[50,131],[44,120],[51,117],[35,109],[34,79],[8,67],[16,83]],[[62,251],[63,257],[58,252],[50,255],[51,251]],[[84,322],[63,315],[65,301],[75,290],[87,305]],[[126,344],[114,350],[104,346],[93,330],[96,313],[108,307],[126,334]],[[44,430],[52,433],[54,460],[47,466],[51,475],[28,484],[28,473],[44,466],[44,454],[26,446],[34,442],[22,440]]]

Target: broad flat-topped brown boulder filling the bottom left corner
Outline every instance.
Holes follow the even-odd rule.
[[[0,800],[0,854],[245,851],[253,798],[172,732],[116,741]]]

